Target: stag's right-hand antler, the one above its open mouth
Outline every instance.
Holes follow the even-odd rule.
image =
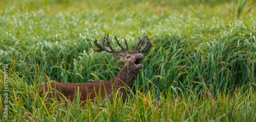
[[[144,46],[144,42],[145,42],[145,36],[143,36],[144,38],[141,40],[139,37],[139,43],[136,46],[134,52],[138,52],[138,53],[146,53],[146,51],[148,50],[148,48],[150,48],[152,46],[152,44],[150,43],[150,39],[148,39],[148,36],[146,35],[146,45]],[[142,46],[142,50],[140,50],[140,47]]]

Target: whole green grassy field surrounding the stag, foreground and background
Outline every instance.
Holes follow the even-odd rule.
[[[1,1],[0,120],[256,121],[255,6],[255,0]],[[115,35],[122,45],[126,37],[131,50],[138,37],[152,42],[127,102],[114,96],[104,107],[82,107],[39,97],[47,82],[113,79],[123,62],[92,50],[106,34],[118,50]],[[206,100],[205,91],[216,101]]]

